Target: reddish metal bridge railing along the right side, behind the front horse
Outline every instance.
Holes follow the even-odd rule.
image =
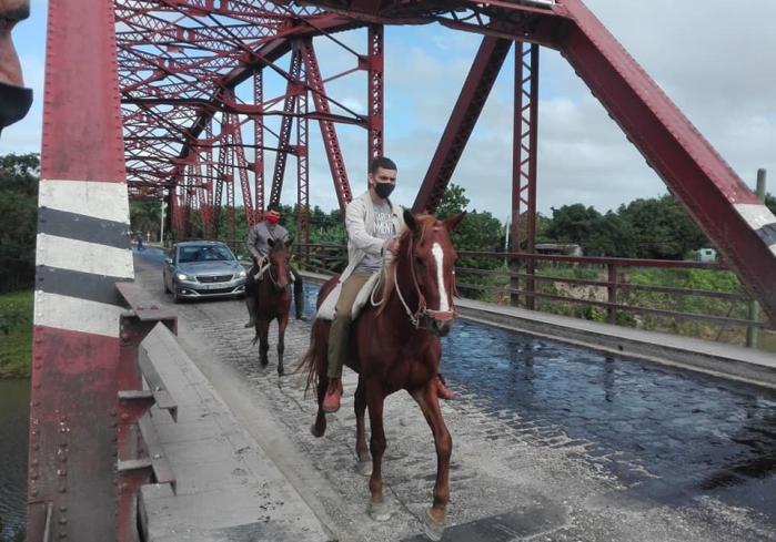
[[[296,246],[316,273],[344,268],[344,245]],[[458,250],[462,295],[632,327],[742,342],[753,301],[724,263]]]

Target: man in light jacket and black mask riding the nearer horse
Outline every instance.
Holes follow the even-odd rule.
[[[323,410],[326,412],[340,409],[342,367],[347,357],[353,304],[370,277],[382,269],[383,257],[390,257],[396,250],[396,238],[405,227],[402,208],[389,200],[396,185],[396,164],[385,156],[376,157],[370,163],[367,178],[369,191],[345,208],[349,262],[340,277],[341,289],[329,334],[329,388],[323,399]],[[441,377],[436,382],[440,397],[455,397]]]

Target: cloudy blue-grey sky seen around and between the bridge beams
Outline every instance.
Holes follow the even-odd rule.
[[[747,184],[765,167],[772,172],[769,192],[776,192],[776,1],[586,3]],[[40,147],[46,4],[33,0],[32,8],[32,19],[16,35],[37,101],[24,121],[3,131],[0,154]],[[364,49],[363,32],[340,38]],[[385,152],[399,163],[397,201],[414,201],[480,41],[435,25],[386,29]],[[353,64],[326,40],[319,40],[316,49],[324,76]],[[510,214],[512,62],[510,57],[453,177],[466,188],[470,208],[491,211],[501,219]],[[541,71],[541,212],[571,203],[604,212],[666,192],[560,54],[543,49]],[[265,95],[273,84],[282,86],[268,82]],[[327,91],[356,111],[365,110],[363,75],[332,82]],[[310,127],[312,203],[332,208],[336,198],[320,132]],[[361,129],[339,130],[357,194],[365,178],[365,135]],[[289,176],[285,203],[294,201],[292,183]]]

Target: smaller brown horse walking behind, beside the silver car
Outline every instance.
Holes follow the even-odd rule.
[[[282,239],[269,239],[270,253],[264,260],[264,272],[261,280],[253,286],[256,298],[256,334],[253,344],[259,340],[259,352],[262,367],[270,362],[266,352],[270,349],[270,323],[278,320],[278,375],[283,376],[283,351],[285,350],[285,328],[289,325],[289,307],[291,306],[291,287],[289,282],[289,259],[291,243]]]

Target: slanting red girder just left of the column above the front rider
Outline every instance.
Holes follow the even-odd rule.
[[[311,88],[313,102],[315,103],[315,111],[329,114],[329,99],[326,98],[323,86],[323,78],[321,76],[321,69],[315,58],[312,38],[302,40],[301,50],[302,58],[304,59],[308,84]],[[319,124],[321,126],[323,146],[326,150],[326,157],[329,158],[329,167],[332,172],[332,181],[334,181],[336,198],[340,202],[340,209],[344,211],[345,205],[353,198],[353,194],[350,183],[347,182],[347,170],[345,168],[345,161],[340,150],[340,141],[336,137],[336,129],[331,121],[321,120]]]

